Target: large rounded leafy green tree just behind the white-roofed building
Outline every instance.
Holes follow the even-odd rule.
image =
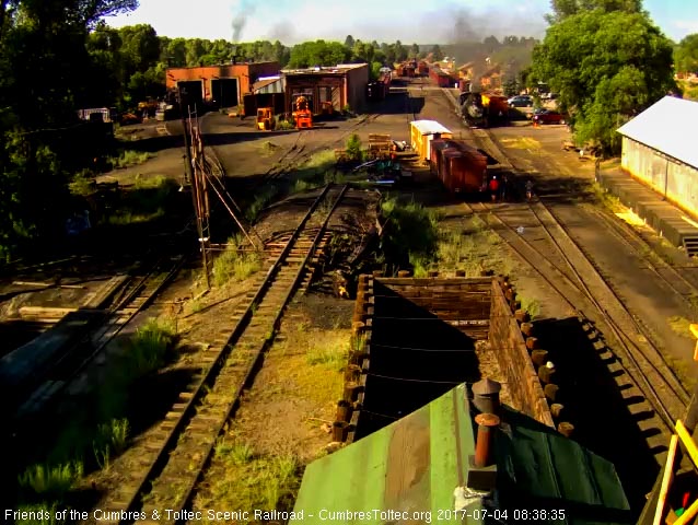
[[[623,11],[585,11],[549,27],[532,72],[573,112],[578,139],[609,150],[618,126],[675,88],[671,42],[647,15]]]

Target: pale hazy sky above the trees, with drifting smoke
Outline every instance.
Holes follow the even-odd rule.
[[[317,38],[344,42],[351,35],[369,42],[449,44],[456,26],[477,39],[540,38],[549,4],[549,0],[140,0],[136,11],[106,22],[113,27],[150,24],[160,36],[171,38],[279,39],[293,45]],[[644,8],[674,40],[698,33],[696,1],[644,0]]]

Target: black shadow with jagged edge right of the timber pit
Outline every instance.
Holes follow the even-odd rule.
[[[597,340],[590,339],[580,319],[539,320],[535,334],[558,370],[559,402],[565,406],[563,419],[574,424],[574,440],[616,466],[631,509],[639,515],[659,471],[653,454],[660,451],[650,450],[645,440],[660,430],[643,432],[638,422],[653,415],[630,413],[630,406],[643,398],[623,397],[607,369],[610,363],[601,359],[594,348]]]

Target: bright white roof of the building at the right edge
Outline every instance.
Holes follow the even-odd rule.
[[[696,121],[698,102],[665,96],[618,128],[618,132],[698,168]]]

